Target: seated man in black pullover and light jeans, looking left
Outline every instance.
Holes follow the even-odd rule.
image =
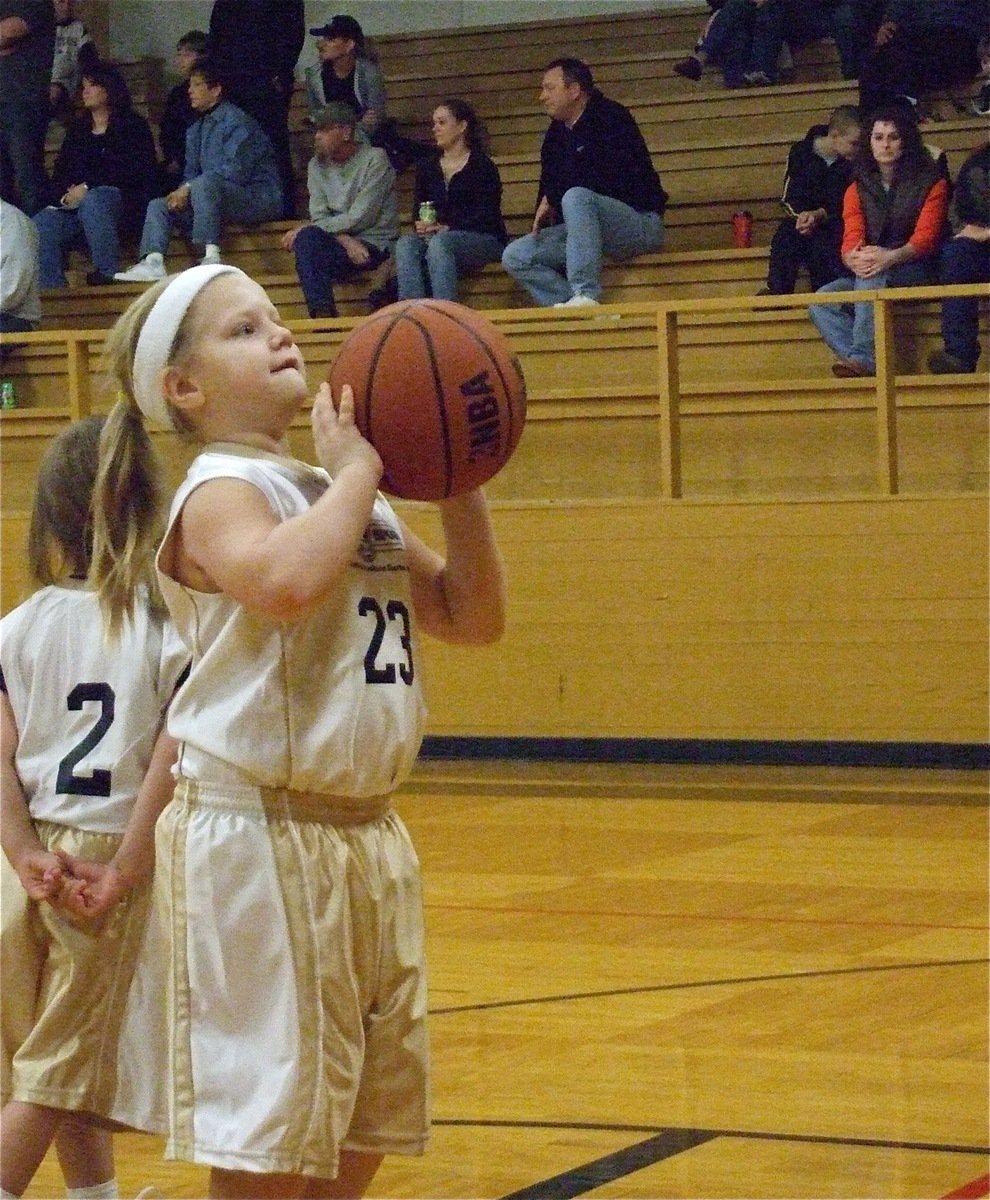
[[[547,66],[540,100],[551,125],[533,232],[510,242],[502,262],[538,305],[594,305],[606,257],[662,246],[667,193],[632,114],[595,88],[580,59]]]

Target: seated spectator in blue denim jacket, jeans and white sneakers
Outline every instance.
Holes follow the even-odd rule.
[[[212,64],[199,62],[190,72],[190,100],[199,119],[186,134],[184,181],[148,205],[140,262],[114,276],[121,282],[164,277],[174,228],[204,247],[204,263],[218,263],[226,222],[260,224],[282,215],[282,182],[271,143],[253,116],[223,98]]]

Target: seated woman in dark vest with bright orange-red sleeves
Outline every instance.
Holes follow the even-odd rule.
[[[878,109],[842,204],[847,272],[820,288],[859,292],[935,282],[949,185],[906,106]],[[812,305],[808,311],[836,354],[840,378],[876,373],[874,306]]]

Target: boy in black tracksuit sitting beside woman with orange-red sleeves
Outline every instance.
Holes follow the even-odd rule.
[[[852,180],[859,133],[859,109],[844,104],[828,125],[812,125],[791,146],[780,198],[787,216],[770,240],[767,286],[758,295],[790,295],[802,266],[815,292],[844,274],[842,197]]]

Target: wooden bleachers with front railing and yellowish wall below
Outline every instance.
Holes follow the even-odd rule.
[[[462,299],[520,355],[529,418],[488,487],[515,580],[509,634],[480,654],[427,647],[431,732],[985,740],[990,376],[926,373],[938,289],[880,295],[878,374],[854,380],[832,377],[806,293],[755,298],[786,149],[856,94],[828,43],[802,52],[794,80],[778,88],[726,91],[714,72],[679,79],[671,65],[706,13],[378,40],[406,132],[425,136],[444,95],[474,100],[514,234],[535,199],[540,68],[562,53],[583,56],[632,108],[671,193],[664,251],[608,265],[600,310],[534,308],[499,266],[464,283]],[[132,76],[152,118],[156,70]],[[301,92],[292,120],[301,172]],[[985,122],[959,114],[925,137],[958,169]],[[410,173],[401,186],[408,212]],[[737,208],[754,214],[752,248],[731,248]],[[316,386],[366,311],[364,288],[337,289],[341,319],[307,320],[278,248],[284,228],[232,229],[224,254],[292,322]],[[193,260],[178,242],[173,251],[176,266]],[[17,338],[5,364],[22,406],[0,418],[5,611],[23,588],[37,457],[65,422],[108,407],[103,334],[139,290],[46,294],[43,330]],[[292,443],[311,457],[307,421],[300,414]],[[168,445],[175,481],[191,451]],[[401,508],[436,536],[432,509]],[[604,695],[622,695],[622,712]]]

